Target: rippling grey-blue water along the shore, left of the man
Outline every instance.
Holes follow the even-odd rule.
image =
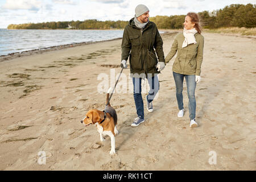
[[[122,38],[123,30],[7,30],[0,29],[0,55],[65,44]]]

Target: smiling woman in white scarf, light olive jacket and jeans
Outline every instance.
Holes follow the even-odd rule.
[[[190,127],[197,127],[196,123],[196,84],[200,81],[201,64],[203,61],[204,36],[201,35],[199,16],[196,13],[188,13],[185,16],[183,33],[176,36],[171,51],[166,56],[166,63],[177,57],[172,66],[172,72],[176,84],[176,98],[179,106],[177,117],[183,117],[183,80],[187,82],[188,109]]]

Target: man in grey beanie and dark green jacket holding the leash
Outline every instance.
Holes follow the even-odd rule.
[[[127,68],[129,57],[130,72],[133,78],[134,101],[138,117],[131,124],[132,127],[144,122],[144,107],[141,95],[142,78],[147,78],[150,91],[146,96],[147,110],[153,111],[152,101],[159,90],[157,74],[165,67],[163,40],[155,23],[150,22],[149,10],[145,5],[135,8],[135,17],[125,27],[122,39],[121,67]],[[158,56],[156,58],[155,52]]]

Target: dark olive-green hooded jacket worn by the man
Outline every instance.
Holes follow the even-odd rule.
[[[141,30],[134,18],[130,20],[123,31],[121,60],[127,61],[128,57],[131,73],[160,73],[155,66],[158,60],[164,62],[163,40],[155,23],[148,22]]]

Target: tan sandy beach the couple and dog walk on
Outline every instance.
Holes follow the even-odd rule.
[[[162,34],[164,55],[176,35]],[[122,39],[1,57],[0,170],[256,170],[256,39],[203,36],[199,127],[189,127],[185,81],[185,115],[177,118],[173,58],[159,75],[153,113],[146,109],[146,92],[142,95],[142,125],[130,126],[137,117],[133,94],[113,94],[119,131],[113,156],[110,138],[97,144],[96,127],[80,121],[89,109],[104,109],[98,76],[105,74],[109,86],[110,77],[118,76]],[[123,70],[122,79],[133,89],[129,73]],[[40,154],[46,154],[45,164]]]

